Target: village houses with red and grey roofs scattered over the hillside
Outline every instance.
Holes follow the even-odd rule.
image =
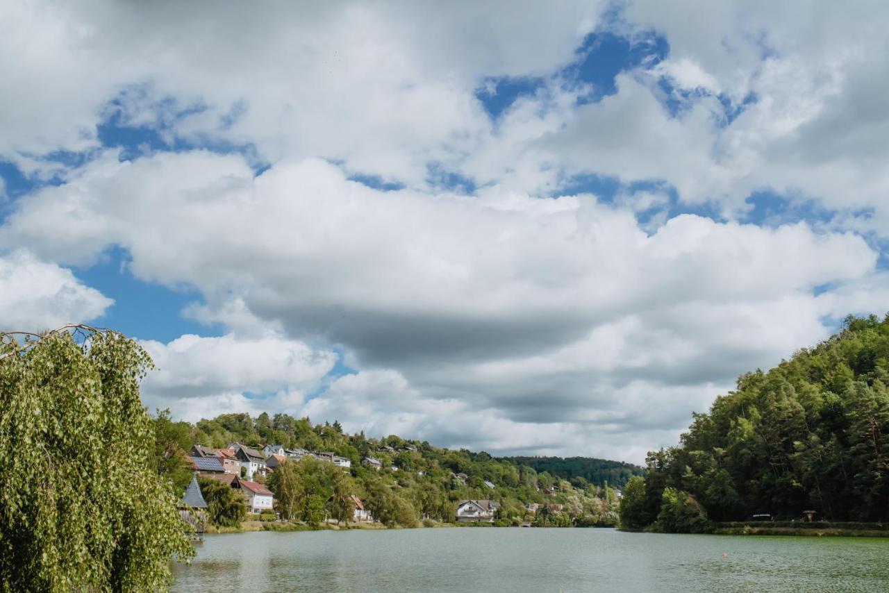
[[[404,445],[404,451],[415,452],[416,450],[415,445]],[[380,451],[396,453],[396,450],[388,445],[382,445]],[[241,493],[248,512],[253,514],[274,512],[276,509],[274,493],[266,485],[255,481],[254,477],[260,477],[264,481],[281,464],[288,461],[300,461],[307,457],[313,458],[316,461],[331,463],[342,469],[350,469],[352,466],[352,461],[335,453],[315,452],[306,449],[285,449],[282,445],[266,445],[261,451],[239,443],[232,443],[226,448],[193,445],[189,452],[188,460],[194,475],[182,497],[180,508],[186,512],[188,512],[188,509],[200,510],[207,508],[207,503],[204,501],[204,496],[197,482],[197,477],[203,476],[218,480]],[[364,457],[361,462],[369,469],[377,471],[383,467],[382,462],[375,457]],[[388,469],[391,471],[399,470],[395,464],[390,465]],[[420,470],[417,472],[417,475],[418,477],[423,477],[425,472]],[[462,473],[452,474],[452,477],[461,482],[465,482],[467,479],[466,474]],[[487,480],[485,485],[492,490],[495,487],[492,482]],[[369,509],[365,509],[364,502],[356,494],[351,494],[349,498],[353,506],[351,523],[371,524],[376,521],[372,512]],[[526,505],[526,509],[530,512],[536,512],[539,506],[536,503],[529,503]],[[561,505],[552,506],[554,508],[558,507],[556,510],[561,510]],[[493,523],[494,515],[498,508],[499,504],[492,500],[459,501],[454,509],[453,519],[457,523]],[[183,515],[183,517],[185,518],[186,515]],[[187,518],[187,520],[195,525],[193,519]],[[203,532],[201,525],[196,525],[196,527],[198,527],[198,532]]]

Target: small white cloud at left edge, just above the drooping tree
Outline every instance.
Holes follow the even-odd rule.
[[[100,317],[114,301],[25,250],[0,256],[0,328],[40,332]]]

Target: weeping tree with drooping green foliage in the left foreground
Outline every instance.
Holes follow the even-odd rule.
[[[150,367],[120,333],[0,333],[0,590],[163,589],[193,555],[148,466]]]

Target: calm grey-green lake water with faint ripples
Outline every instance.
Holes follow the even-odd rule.
[[[723,553],[728,556],[724,557]],[[451,528],[210,535],[176,591],[889,591],[889,539]]]

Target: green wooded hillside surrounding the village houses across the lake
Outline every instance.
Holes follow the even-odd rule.
[[[316,523],[324,510],[328,516],[341,515],[333,511],[337,501],[348,504],[348,494],[356,494],[375,517],[389,525],[415,525],[420,519],[452,522],[457,501],[467,499],[498,501],[500,525],[615,525],[618,520],[613,488],[585,477],[566,480],[485,452],[454,451],[394,435],[380,439],[363,433],[347,435],[338,422],[312,424],[308,418],[281,413],[262,413],[256,418],[227,413],[190,424],[172,421],[170,413],[163,411],[156,414],[154,426],[154,467],[179,492],[191,477],[187,452],[196,444],[223,448],[240,443],[260,449],[274,444],[347,458],[351,468],[345,471],[331,463],[304,459],[286,461],[285,470],[276,469],[268,477],[276,500],[286,504],[284,515],[307,523]],[[363,465],[364,457],[380,460],[382,469]],[[295,485],[297,492],[288,491],[287,485]],[[526,506],[533,503],[540,505],[536,512]],[[218,506],[227,509],[226,517],[220,515],[220,525],[231,525],[243,516],[237,509],[228,509],[227,501]]]

